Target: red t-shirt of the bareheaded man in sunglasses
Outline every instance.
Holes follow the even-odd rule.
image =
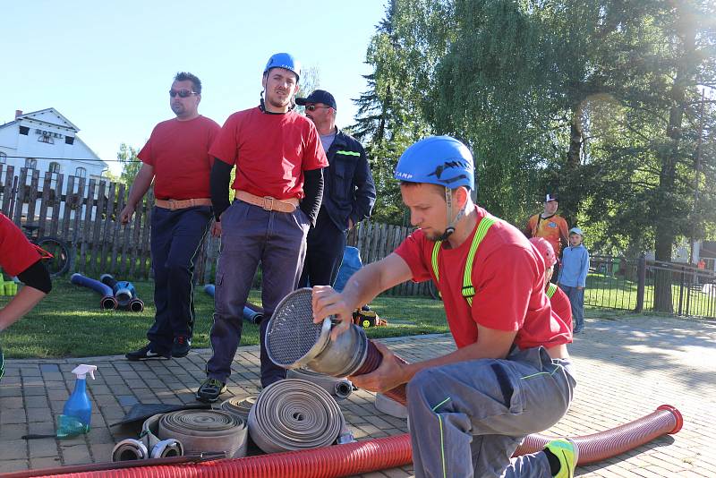
[[[206,116],[170,119],[154,127],[137,155],[154,168],[154,195],[160,200],[210,198],[214,158],[209,147],[221,127]]]

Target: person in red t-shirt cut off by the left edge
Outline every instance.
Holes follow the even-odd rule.
[[[13,221],[0,213],[0,267],[8,276],[17,276],[25,285],[0,310],[0,332],[30,312],[52,290],[49,272],[40,259],[38,248],[28,241]],[[0,348],[0,379],[3,372],[3,350]]]

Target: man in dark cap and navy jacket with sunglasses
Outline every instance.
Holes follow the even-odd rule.
[[[320,134],[328,157],[323,169],[323,203],[306,239],[306,260],[299,286],[333,286],[350,228],[371,216],[375,184],[360,142],[336,126],[336,99],[326,90],[296,98]]]

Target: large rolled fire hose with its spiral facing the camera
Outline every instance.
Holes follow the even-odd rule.
[[[336,400],[308,380],[272,383],[249,413],[251,440],[266,453],[328,447],[342,430],[345,419]]]

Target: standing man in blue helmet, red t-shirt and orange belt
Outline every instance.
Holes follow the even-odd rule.
[[[263,70],[265,98],[229,116],[209,153],[215,230],[221,235],[214,295],[214,325],[207,380],[197,399],[214,402],[226,391],[236,347],[241,341],[243,305],[261,264],[261,385],[285,379],[271,362],[264,336],[279,301],[298,284],[306,255],[306,234],[315,224],[323,196],[321,169],[328,166],[316,127],[294,112],[301,67],[292,55],[278,53]],[[227,184],[236,166],[229,205]]]

